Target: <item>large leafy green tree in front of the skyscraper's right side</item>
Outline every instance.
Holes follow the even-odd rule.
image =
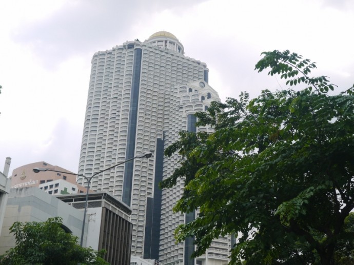
[[[354,208],[353,87],[329,95],[335,85],[310,77],[309,59],[262,55],[255,69],[300,89],[213,102],[195,115],[214,132],[181,132],[166,149],[180,154],[181,166],[160,186],[185,179],[174,211],[200,210],[176,240],[194,236],[196,257],[213,238],[235,234],[231,264],[343,263],[354,240],[345,225]]]

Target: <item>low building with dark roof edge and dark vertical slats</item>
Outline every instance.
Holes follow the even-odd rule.
[[[56,197],[75,209],[84,210],[86,194],[66,194]],[[94,250],[107,250],[105,260],[111,265],[129,265],[132,236],[130,214],[130,207],[110,194],[90,193],[85,246]]]

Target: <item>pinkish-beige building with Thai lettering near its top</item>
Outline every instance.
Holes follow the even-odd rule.
[[[11,189],[38,187],[49,194],[86,193],[86,188],[76,184],[76,176],[65,173],[45,171],[34,173],[34,168],[72,173],[64,168],[53,166],[45,161],[28,164],[12,171]],[[50,183],[49,183],[50,182]]]

